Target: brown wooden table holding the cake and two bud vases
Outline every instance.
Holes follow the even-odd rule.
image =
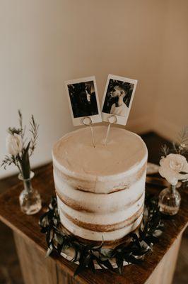
[[[158,151],[158,149],[157,149]],[[153,159],[154,160],[154,159]],[[33,187],[41,194],[42,210],[33,216],[27,216],[20,211],[18,195],[22,184],[6,190],[0,196],[0,219],[13,230],[16,249],[25,283],[28,284],[168,284],[171,283],[177,253],[180,246],[182,232],[188,222],[188,192],[180,190],[182,204],[180,212],[172,219],[165,219],[165,232],[159,243],[153,247],[153,253],[146,256],[141,265],[125,266],[122,275],[111,271],[96,271],[95,274],[87,270],[74,278],[76,265],[52,253],[45,258],[47,244],[45,235],[40,233],[38,219],[45,211],[49,200],[54,194],[52,165],[45,165],[37,170],[33,179]],[[1,183],[1,182],[0,182]],[[2,185],[3,183],[1,183]],[[146,188],[157,194],[159,187]]]

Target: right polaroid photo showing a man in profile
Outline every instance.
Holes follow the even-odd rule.
[[[127,124],[137,80],[108,75],[102,99],[102,120],[109,122],[116,116],[116,124]]]

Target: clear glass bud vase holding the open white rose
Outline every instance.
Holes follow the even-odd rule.
[[[175,215],[180,209],[181,195],[175,185],[170,185],[160,192],[158,206],[165,215]]]

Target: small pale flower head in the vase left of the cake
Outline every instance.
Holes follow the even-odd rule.
[[[23,149],[23,140],[20,135],[14,133],[6,136],[6,150],[8,154],[18,155]]]

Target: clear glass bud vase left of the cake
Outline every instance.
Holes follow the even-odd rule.
[[[31,184],[34,173],[30,172],[30,178],[25,179],[22,175],[18,178],[23,181],[24,190],[20,193],[19,201],[21,211],[25,214],[32,215],[40,211],[42,204],[40,194],[35,190]]]

